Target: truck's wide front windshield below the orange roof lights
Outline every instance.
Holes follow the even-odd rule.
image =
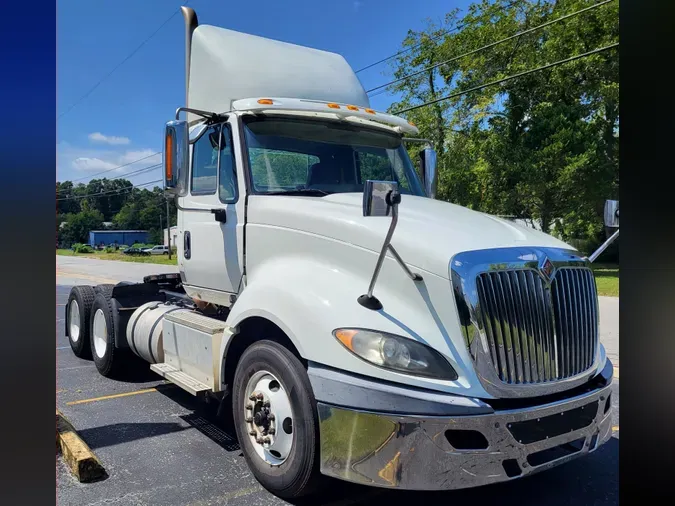
[[[401,138],[330,121],[256,117],[246,122],[254,193],[363,192],[369,179],[424,195]]]

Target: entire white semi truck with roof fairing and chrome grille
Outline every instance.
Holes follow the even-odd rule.
[[[590,260],[435,200],[431,145],[372,110],[341,56],[182,11],[187,107],[164,135],[179,273],[74,287],[74,353],[111,376],[133,352],[218,399],[284,498],[323,476],[480,486],[606,442]]]

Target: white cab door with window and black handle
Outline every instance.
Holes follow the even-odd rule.
[[[232,125],[204,129],[192,143],[190,165],[189,193],[179,201],[183,284],[192,296],[224,304],[238,291],[243,270]]]

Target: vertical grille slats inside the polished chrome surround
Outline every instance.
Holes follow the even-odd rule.
[[[544,383],[591,367],[597,297],[590,269],[559,268],[550,288],[534,269],[488,271],[476,288],[476,313],[501,381]]]

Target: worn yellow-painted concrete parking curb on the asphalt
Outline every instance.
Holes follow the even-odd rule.
[[[58,409],[56,410],[56,446],[61,448],[64,462],[70,467],[78,481],[88,483],[106,476],[101,461]]]

